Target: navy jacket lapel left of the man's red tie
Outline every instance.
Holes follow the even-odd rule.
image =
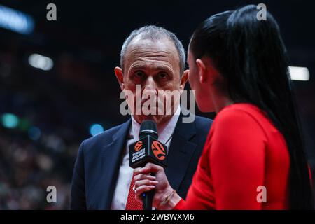
[[[111,209],[111,202],[113,200],[113,193],[116,188],[116,181],[118,178],[119,166],[122,153],[125,149],[126,138],[129,132],[131,119],[120,127],[120,129],[113,134],[113,141],[104,146],[102,151],[102,167],[101,176],[98,180],[99,193],[97,193],[96,207],[97,209]]]

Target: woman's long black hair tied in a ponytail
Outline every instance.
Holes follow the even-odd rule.
[[[258,20],[257,13],[250,5],[211,16],[195,30],[189,49],[195,59],[211,58],[234,102],[255,104],[267,113],[290,154],[290,209],[313,209],[286,48],[273,16]]]

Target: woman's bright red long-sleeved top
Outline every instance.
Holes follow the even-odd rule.
[[[264,112],[252,104],[226,106],[211,127],[186,201],[174,209],[288,209],[289,167],[286,141]]]

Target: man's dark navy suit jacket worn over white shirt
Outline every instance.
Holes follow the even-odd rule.
[[[196,116],[193,123],[183,123],[182,117],[174,130],[165,173],[185,199],[212,120]],[[130,125],[131,119],[83,141],[73,170],[71,209],[111,209]]]

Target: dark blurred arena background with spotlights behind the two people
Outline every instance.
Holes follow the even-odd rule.
[[[46,19],[48,3],[57,6],[57,21]],[[314,1],[1,0],[0,209],[68,209],[80,142],[127,120],[113,69],[133,29],[165,27],[187,49],[202,20],[248,3],[265,3],[279,21],[292,66],[309,71],[294,87],[314,180]],[[57,203],[46,201],[50,185]]]

